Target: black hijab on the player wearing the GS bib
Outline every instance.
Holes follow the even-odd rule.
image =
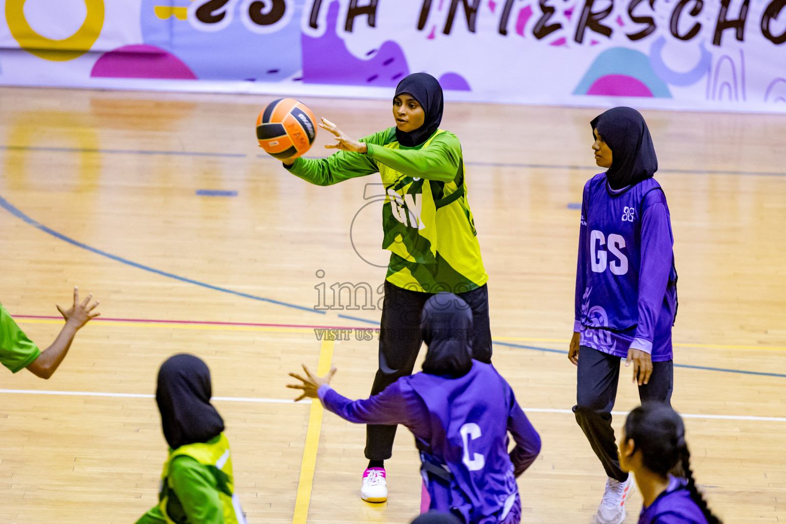
[[[612,148],[612,167],[606,171],[612,189],[652,178],[658,170],[658,159],[641,113],[632,108],[613,108],[596,116],[590,124]]]

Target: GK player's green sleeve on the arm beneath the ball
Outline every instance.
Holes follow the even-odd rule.
[[[391,130],[386,129],[379,133],[369,134],[360,141],[369,145],[384,145],[389,141]],[[286,167],[286,166],[285,166]],[[290,167],[286,167],[292,174],[316,185],[332,185],[349,180],[350,178],[365,177],[369,174],[379,173],[376,162],[369,155],[339,151],[327,158],[306,159],[300,157]]]

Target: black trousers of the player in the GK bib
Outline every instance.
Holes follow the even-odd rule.
[[[410,291],[385,280],[385,297],[380,326],[380,368],[374,377],[371,394],[376,395],[401,376],[412,374],[421,350],[421,313],[434,293]],[[491,362],[488,288],[457,293],[472,309],[472,357]],[[393,453],[397,426],[369,424],[365,427],[365,458],[386,460]]]

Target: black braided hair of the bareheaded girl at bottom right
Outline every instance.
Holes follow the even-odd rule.
[[[641,450],[641,461],[648,470],[663,478],[672,474],[687,479],[690,497],[707,522],[722,524],[696,489],[685,426],[670,405],[648,402],[631,411],[625,420],[625,438],[634,441],[634,453]]]

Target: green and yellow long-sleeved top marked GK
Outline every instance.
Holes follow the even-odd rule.
[[[382,247],[391,251],[386,277],[391,284],[454,293],[486,284],[458,137],[437,130],[410,148],[399,144],[391,127],[360,140],[368,145],[365,154],[299,158],[287,168],[316,185],[380,174],[386,192]]]

